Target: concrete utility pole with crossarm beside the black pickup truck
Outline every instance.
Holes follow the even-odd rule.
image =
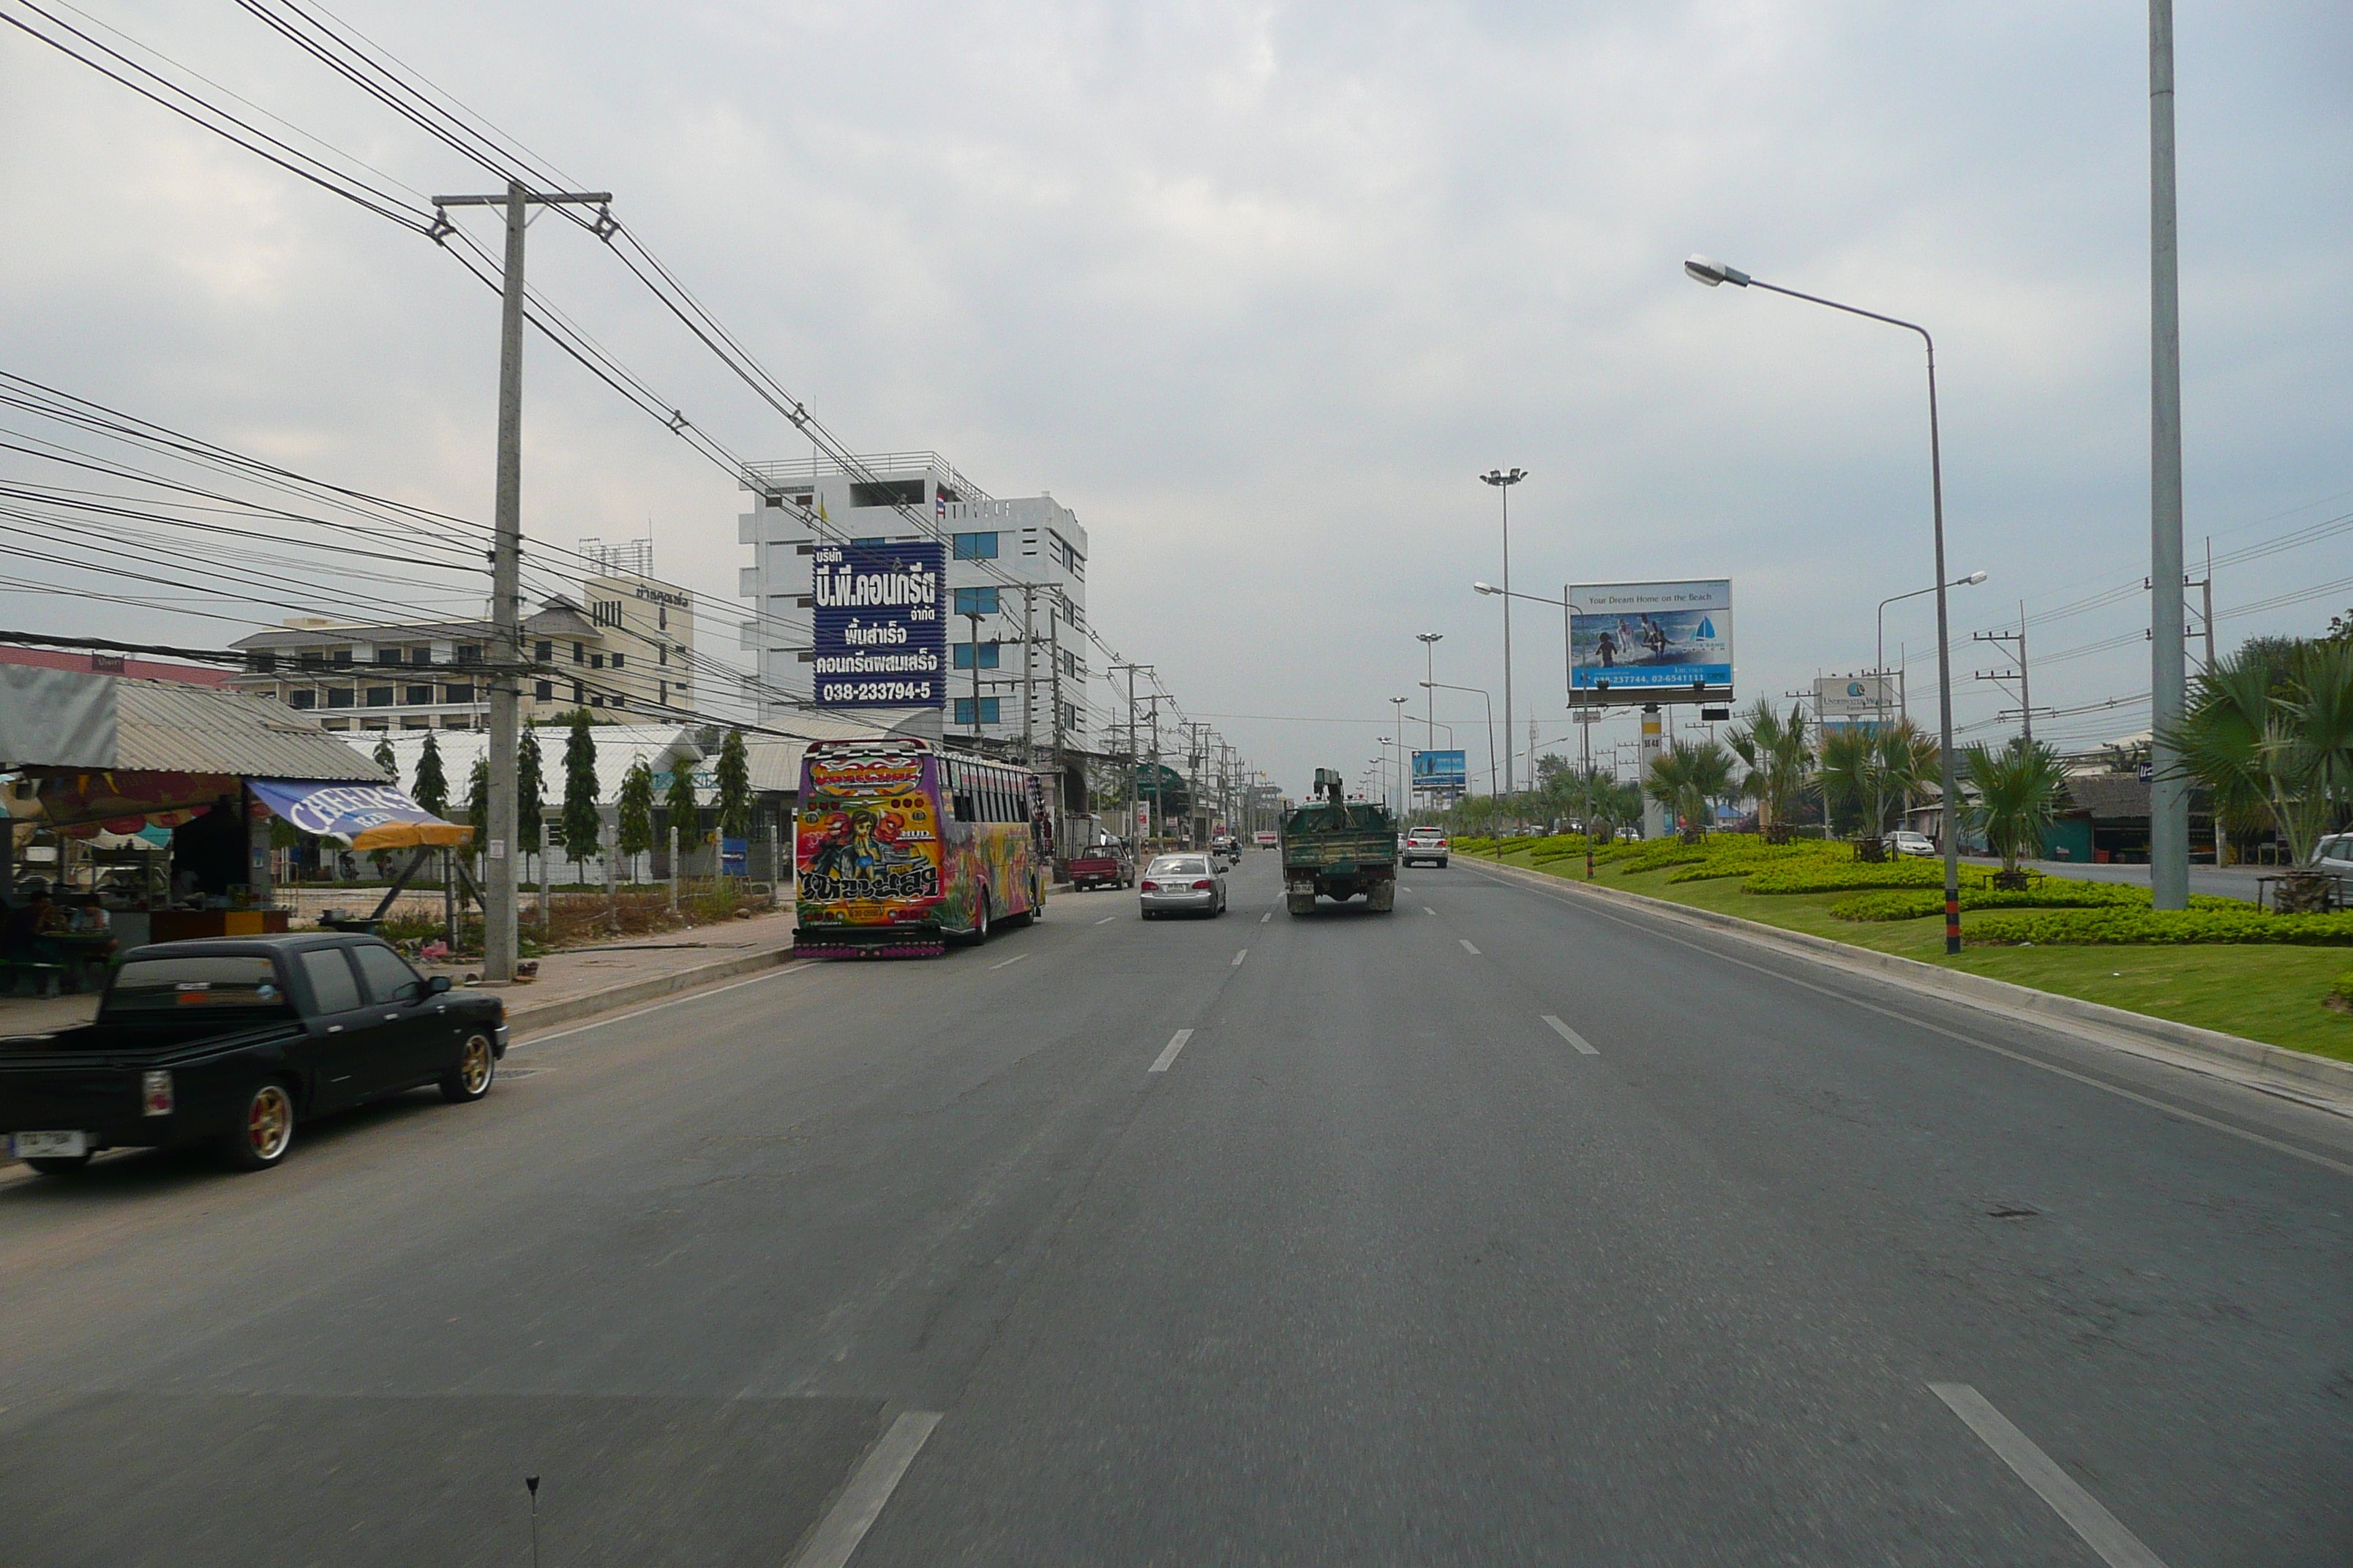
[[[522,696],[522,230],[532,202],[598,207],[612,233],[612,193],[534,193],[508,181],[504,195],[435,195],[435,242],[449,233],[447,207],[506,207],[506,289],[499,310],[499,498],[489,550],[489,835],[482,844],[482,978],[515,978],[515,745]]]

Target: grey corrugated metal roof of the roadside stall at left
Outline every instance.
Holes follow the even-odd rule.
[[[271,703],[224,686],[115,677],[115,769],[384,783],[365,752]]]

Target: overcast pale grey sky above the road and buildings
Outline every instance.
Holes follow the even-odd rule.
[[[487,188],[231,0],[33,2],[416,193]],[[26,0],[0,14],[38,21]],[[1501,705],[1499,614],[1468,588],[1501,576],[1475,480],[1492,465],[1529,470],[1515,588],[1729,576],[1744,698],[1873,661],[1878,599],[1932,581],[1918,343],[1694,287],[1689,252],[1937,334],[1951,567],[1991,574],[1955,595],[1955,630],[2014,623],[2024,599],[2052,656],[2038,705],[2125,698],[2045,733],[2146,726],[2146,597],[2104,599],[2148,567],[2129,0],[334,14],[614,190],[854,447],[936,449],[998,496],[1078,510],[1104,639],[1289,790],[1318,764],[1362,771],[1393,733],[1386,698],[1421,712],[1414,632],[1445,635],[1438,679]],[[431,242],[5,33],[0,369],[487,520],[494,296]],[[2186,0],[2179,136],[2188,550],[2311,534],[2217,571],[2228,649],[2353,607],[2353,524],[2315,527],[2353,515],[2353,9]],[[732,451],[805,456],[593,237],[544,221],[529,268]],[[544,343],[525,428],[534,541],[652,529],[664,576],[732,597],[748,550],[718,468]],[[0,454],[0,473],[28,461]],[[200,559],[158,555],[165,578]],[[249,628],[195,611],[282,614],[89,564],[0,571],[144,599],[14,588],[16,630],[219,646]],[[353,604],[480,604],[475,581],[386,576],[409,585],[353,578]],[[1887,625],[1915,712],[1927,607]],[[1520,609],[1518,743],[1534,715],[1560,748],[1558,614]],[[1962,679],[1974,736],[2002,733],[2007,705]],[[1475,708],[1438,712],[1473,752]]]

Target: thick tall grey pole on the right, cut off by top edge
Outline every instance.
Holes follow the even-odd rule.
[[[2148,903],[2191,907],[2181,724],[2181,252],[2174,228],[2174,0],[2148,0]]]

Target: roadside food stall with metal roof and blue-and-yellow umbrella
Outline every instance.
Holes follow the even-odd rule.
[[[0,961],[45,971],[38,978],[52,985],[47,971],[87,980],[118,947],[285,931],[289,912],[271,886],[273,816],[365,849],[471,837],[391,790],[367,755],[318,724],[216,686],[0,668],[0,764],[33,785],[31,820],[59,842],[52,875],[35,879],[21,877],[7,835]],[[169,849],[155,875],[92,875],[82,886],[78,853],[92,870],[89,846],[106,835],[162,832]],[[49,907],[28,914],[33,903]]]

